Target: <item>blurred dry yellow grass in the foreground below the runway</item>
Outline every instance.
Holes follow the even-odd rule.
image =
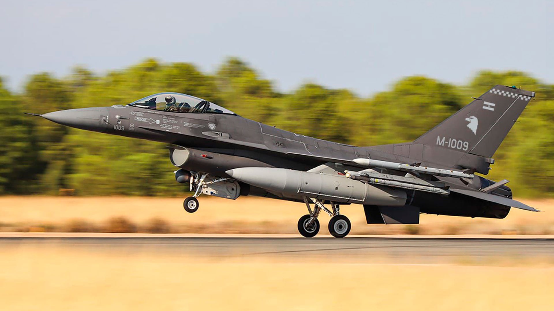
[[[2,310],[551,310],[554,267],[3,247]]]

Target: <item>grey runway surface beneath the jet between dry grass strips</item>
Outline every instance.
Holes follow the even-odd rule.
[[[328,258],[443,262],[453,258],[554,260],[554,239],[452,239],[351,237],[0,237],[4,247],[70,247],[74,250],[160,253],[203,257]]]

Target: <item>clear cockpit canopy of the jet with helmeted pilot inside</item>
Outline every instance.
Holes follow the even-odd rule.
[[[236,115],[233,111],[218,106],[213,102],[173,92],[146,96],[143,99],[130,103],[129,106],[170,112],[228,113],[229,115]]]

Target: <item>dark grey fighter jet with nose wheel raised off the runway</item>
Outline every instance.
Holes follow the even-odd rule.
[[[201,194],[304,203],[298,231],[313,237],[318,216],[329,232],[351,230],[340,206],[359,204],[367,224],[418,224],[419,214],[502,219],[511,207],[538,211],[512,199],[508,180],[482,176],[493,154],[535,97],[535,92],[496,85],[413,142],[357,147],[307,137],[241,117],[198,97],[166,92],[127,105],[37,115],[61,125],[167,143],[175,178]],[[368,120],[368,122],[379,122]]]

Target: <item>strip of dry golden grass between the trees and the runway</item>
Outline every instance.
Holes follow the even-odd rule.
[[[304,204],[264,198],[202,196],[194,214],[179,198],[0,197],[3,231],[296,233]],[[512,209],[506,219],[421,215],[420,225],[367,225],[360,205],[343,206],[352,234],[554,234],[554,200],[523,200],[543,212]],[[322,232],[327,217],[320,217]]]

